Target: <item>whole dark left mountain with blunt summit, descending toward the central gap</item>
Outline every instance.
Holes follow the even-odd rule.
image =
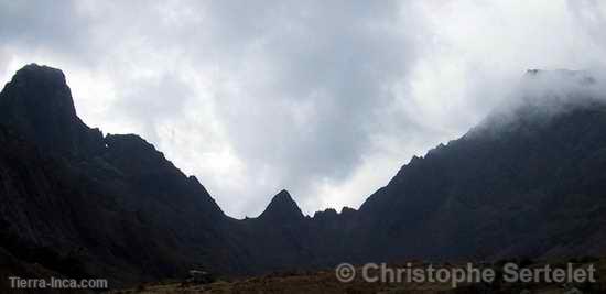
[[[0,247],[15,258],[115,284],[237,270],[198,181],[137,135],[89,129],[59,70],[24,67],[0,105]]]

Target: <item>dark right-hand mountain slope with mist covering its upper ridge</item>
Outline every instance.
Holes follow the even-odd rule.
[[[606,106],[584,95],[526,97],[414,157],[360,207],[364,255],[604,252]]]

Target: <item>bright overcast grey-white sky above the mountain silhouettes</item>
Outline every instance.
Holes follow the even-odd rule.
[[[357,208],[528,68],[606,64],[606,3],[0,0],[0,79],[63,69],[79,116],[138,133],[230,216],[286,188]]]

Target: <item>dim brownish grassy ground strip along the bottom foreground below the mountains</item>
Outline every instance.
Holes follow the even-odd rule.
[[[300,273],[274,273],[259,277],[241,279],[235,281],[217,281],[209,284],[191,284],[186,282],[166,282],[156,284],[140,285],[137,288],[113,291],[112,294],[126,293],[225,293],[225,294],[248,294],[248,293],[606,293],[606,281],[599,276],[606,276],[606,259],[599,260],[573,260],[575,266],[587,266],[593,263],[598,268],[598,283],[596,284],[509,284],[495,282],[491,284],[467,284],[452,288],[450,284],[440,283],[368,283],[356,279],[349,283],[339,282],[334,271],[300,272]],[[569,261],[550,261],[550,264],[562,265]],[[528,266],[541,266],[544,263],[532,263]],[[444,265],[446,266],[446,265]],[[499,264],[490,265],[499,269]],[[358,275],[359,276],[359,269]]]

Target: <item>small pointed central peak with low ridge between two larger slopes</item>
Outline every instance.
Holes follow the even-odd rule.
[[[286,190],[282,190],[258,218],[239,220],[234,228],[246,248],[252,273],[274,270],[320,269],[343,262],[355,221],[355,210],[344,208],[303,216]]]

